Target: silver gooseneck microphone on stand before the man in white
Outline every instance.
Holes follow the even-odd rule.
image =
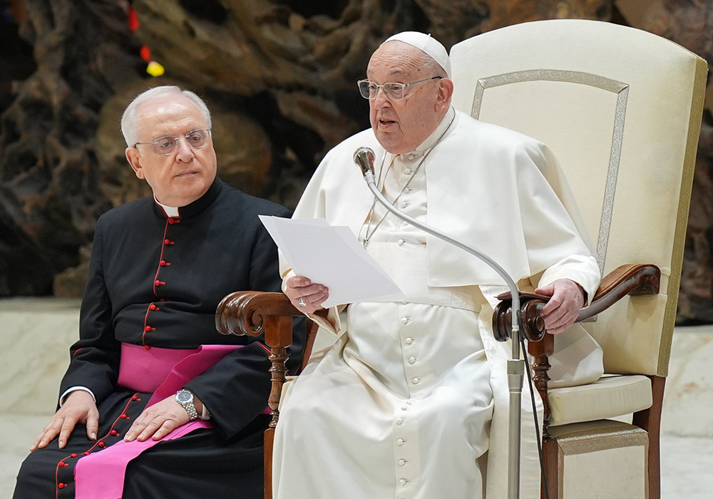
[[[401,212],[394,205],[386,200],[384,195],[379,192],[376,187],[376,180],[374,179],[374,151],[370,148],[361,147],[354,151],[354,163],[356,163],[359,168],[361,168],[361,173],[364,175],[364,180],[369,186],[369,190],[374,193],[379,202],[384,205],[386,210],[399,217],[404,222],[407,222],[414,227],[418,227],[424,232],[434,235],[441,240],[451,243],[456,247],[459,247],[466,252],[473,254],[474,256],[481,259],[483,262],[488,264],[493,270],[495,270],[503,281],[506,282],[510,288],[510,292],[513,299],[512,305],[512,334],[511,334],[511,344],[512,344],[512,356],[508,360],[508,388],[510,389],[510,426],[508,432],[508,499],[518,499],[520,497],[520,409],[521,409],[521,393],[523,391],[523,377],[525,375],[525,360],[520,359],[520,293],[518,287],[515,285],[512,277],[498,265],[493,259],[488,257],[486,254],[478,251],[478,249],[466,245],[466,243],[461,240],[451,237],[443,232],[429,227],[418,220],[409,217],[405,213]]]

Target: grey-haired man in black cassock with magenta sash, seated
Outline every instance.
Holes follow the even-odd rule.
[[[146,91],[121,128],[153,197],[97,222],[59,408],[13,497],[262,498],[269,349],[222,336],[214,317],[226,294],[279,291],[277,249],[257,215],[290,213],[216,177],[210,112],[194,93]]]

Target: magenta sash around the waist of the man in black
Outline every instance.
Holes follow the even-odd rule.
[[[148,404],[163,400],[180,390],[242,345],[202,345],[198,349],[173,350],[152,346],[121,344],[118,384],[132,391],[150,393]],[[162,441],[187,435],[198,428],[212,428],[207,421],[193,421],[175,428],[160,440],[149,438],[119,441],[101,452],[84,456],[74,468],[75,499],[120,499],[128,463],[148,448]]]

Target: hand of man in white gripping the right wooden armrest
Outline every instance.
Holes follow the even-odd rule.
[[[584,290],[570,279],[557,279],[545,287],[535,289],[535,293],[551,297],[540,314],[550,334],[567,331],[584,305]]]

